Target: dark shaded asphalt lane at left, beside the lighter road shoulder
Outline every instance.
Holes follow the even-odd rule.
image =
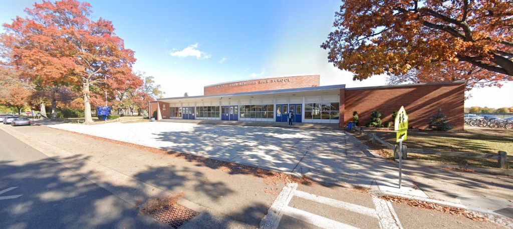
[[[3,130],[0,149],[0,228],[167,227]]]

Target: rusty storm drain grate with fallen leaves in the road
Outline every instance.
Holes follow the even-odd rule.
[[[185,208],[180,204],[173,204],[172,206],[157,209],[151,212],[151,215],[165,224],[178,228],[197,216],[198,213]]]

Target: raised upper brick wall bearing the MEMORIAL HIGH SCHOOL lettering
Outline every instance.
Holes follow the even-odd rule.
[[[319,86],[319,75],[290,76],[222,83],[203,88],[203,95],[219,95],[250,91],[277,90]]]

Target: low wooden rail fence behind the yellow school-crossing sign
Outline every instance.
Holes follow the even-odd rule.
[[[387,148],[393,150],[393,157],[399,159],[399,146],[393,145],[384,141],[375,133],[369,133],[364,131],[362,128],[355,127],[357,131],[360,133],[365,133],[372,141],[372,144],[376,144],[376,141],[383,144]],[[508,169],[509,164],[508,161],[513,161],[513,159],[508,159],[508,154],[505,151],[499,151],[497,154],[485,154],[485,153],[467,153],[467,152],[449,152],[449,151],[436,151],[436,150],[425,150],[425,149],[408,149],[406,145],[403,144],[403,159],[408,159],[408,153],[418,153],[424,155],[439,155],[439,156],[457,156],[457,157],[471,157],[471,158],[479,158],[479,159],[497,159],[499,164],[499,168]],[[511,158],[511,157],[510,157]]]

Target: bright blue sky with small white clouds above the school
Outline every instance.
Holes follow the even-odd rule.
[[[25,16],[34,2],[6,1],[0,22]],[[333,30],[340,1],[87,2],[94,20],[112,21],[135,51],[134,70],[153,76],[165,97],[203,95],[203,86],[226,81],[307,74],[320,74],[321,85],[386,83],[384,76],[352,81],[351,73],[328,63],[320,45]],[[465,107],[513,106],[513,83],[473,89],[472,96]]]

